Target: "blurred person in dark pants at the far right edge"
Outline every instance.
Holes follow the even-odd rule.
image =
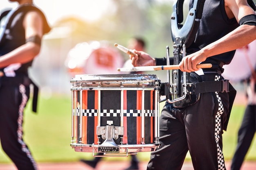
[[[249,46],[244,48],[249,50]],[[238,143],[232,159],[231,170],[240,170],[256,132],[256,68],[252,70],[252,75],[245,80],[245,87],[247,107],[238,130]]]

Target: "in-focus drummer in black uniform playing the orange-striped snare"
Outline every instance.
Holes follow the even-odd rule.
[[[237,48],[256,39],[256,7],[252,0],[248,2],[205,0],[195,39],[179,64],[182,72],[199,71],[200,83],[204,85],[206,81],[223,82],[222,65],[231,62]],[[166,64],[166,59],[153,58],[141,51],[135,53],[134,57],[130,55],[134,66]],[[211,63],[213,67],[199,70],[196,65],[201,62]],[[226,170],[222,133],[227,129],[236,91],[231,85],[228,93],[210,87],[198,89],[200,98],[191,105],[181,100],[182,107],[174,107],[166,102],[159,120],[161,145],[151,152],[148,170],[180,170],[188,151],[195,170]]]

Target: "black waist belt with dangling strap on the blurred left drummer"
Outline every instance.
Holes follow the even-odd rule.
[[[4,85],[11,86],[11,85],[20,85],[20,84],[29,86],[30,84],[32,84],[34,87],[32,111],[36,113],[39,88],[28,76],[15,76],[15,77],[2,76],[0,77],[0,80],[1,80],[0,81],[1,86],[4,86]]]

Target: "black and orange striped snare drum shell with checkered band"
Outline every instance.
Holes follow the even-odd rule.
[[[104,139],[97,135],[97,126],[106,126],[108,120],[114,126],[123,122],[124,135],[114,139],[118,145],[155,142],[159,102],[159,80],[155,75],[77,75],[71,82],[73,133],[76,140],[81,137],[81,144],[102,144]]]

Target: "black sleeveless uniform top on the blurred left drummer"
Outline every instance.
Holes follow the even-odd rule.
[[[4,31],[4,36],[0,40],[0,56],[11,52],[12,50],[22,46],[26,43],[25,39],[25,29],[23,27],[23,19],[25,14],[28,11],[38,11],[43,17],[43,33],[48,33],[50,31],[49,24],[45,18],[43,12],[37,7],[31,4],[20,5],[16,11],[11,15],[9,21],[7,22],[7,27]],[[3,15],[6,15],[7,12],[3,12],[0,16],[0,19],[3,18]],[[18,70],[14,70],[16,74],[25,74],[27,75],[27,68],[31,66],[32,61],[22,64]],[[0,70],[3,70],[1,68]]]

